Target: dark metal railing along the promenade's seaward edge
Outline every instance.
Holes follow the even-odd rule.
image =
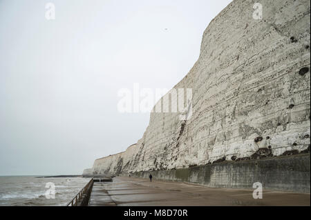
[[[92,178],[82,190],[80,190],[73,199],[67,203],[66,206],[88,206],[91,192],[93,188],[94,179]]]

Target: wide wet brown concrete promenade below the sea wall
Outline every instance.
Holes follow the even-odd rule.
[[[310,206],[310,193],[207,188],[187,183],[115,177],[94,183],[89,206]]]

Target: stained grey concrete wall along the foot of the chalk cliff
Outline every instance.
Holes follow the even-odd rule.
[[[178,170],[141,171],[133,177],[196,183],[214,188],[263,188],[310,193],[310,154],[272,157],[270,159],[226,161]]]

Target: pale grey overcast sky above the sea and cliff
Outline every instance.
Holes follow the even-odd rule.
[[[81,174],[136,143],[149,114],[118,90],[172,88],[230,2],[0,0],[0,175]]]

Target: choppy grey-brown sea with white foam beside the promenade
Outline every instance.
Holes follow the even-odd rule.
[[[0,176],[0,206],[66,206],[90,179]]]

